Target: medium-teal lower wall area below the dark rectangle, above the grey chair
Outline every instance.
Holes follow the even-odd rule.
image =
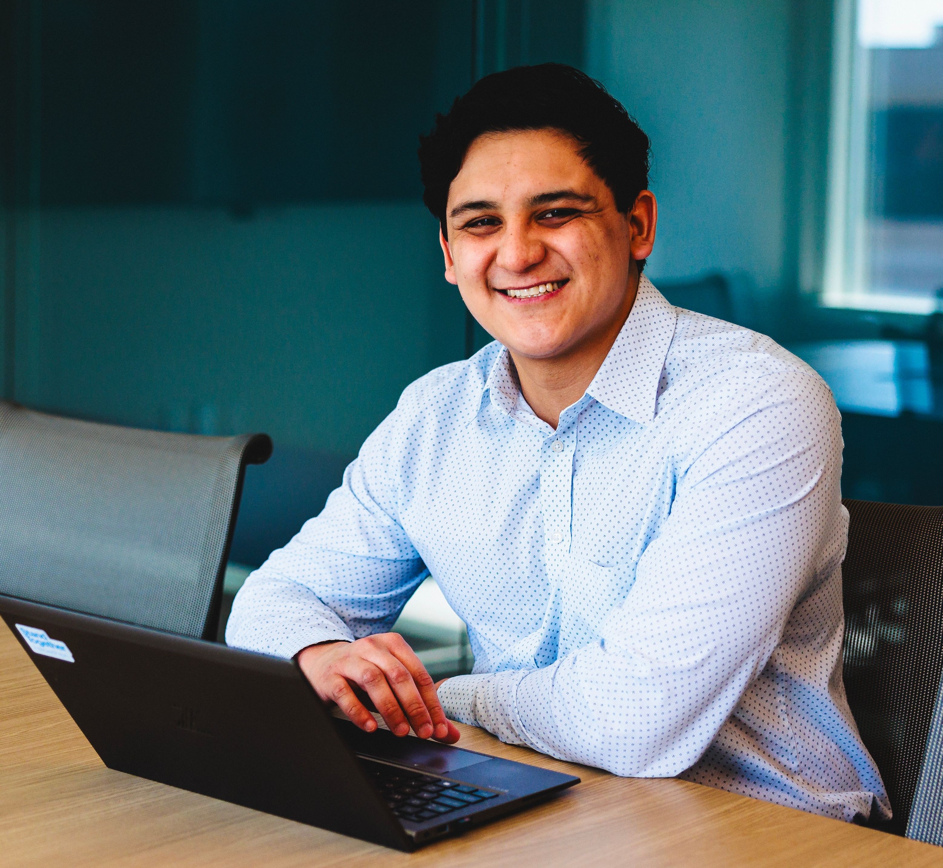
[[[46,209],[30,403],[351,453],[464,307],[420,203]]]

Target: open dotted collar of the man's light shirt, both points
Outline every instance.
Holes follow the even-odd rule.
[[[654,418],[658,383],[677,318],[674,307],[643,274],[632,310],[589,384],[587,395],[620,416],[649,424]],[[488,371],[478,410],[488,395],[491,403],[513,416],[520,391],[510,353],[502,347]],[[472,419],[475,416],[477,413]]]

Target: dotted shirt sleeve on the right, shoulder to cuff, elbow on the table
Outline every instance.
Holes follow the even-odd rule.
[[[450,716],[618,775],[700,759],[847,539],[840,418],[817,377],[768,383],[706,439],[600,640],[544,668],[447,680]]]

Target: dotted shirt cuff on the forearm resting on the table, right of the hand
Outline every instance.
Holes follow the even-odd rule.
[[[508,745],[529,745],[517,709],[518,685],[529,672],[457,675],[438,688],[438,701],[459,723],[488,729]]]

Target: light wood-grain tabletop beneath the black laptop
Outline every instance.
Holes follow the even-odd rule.
[[[616,778],[471,727],[460,744],[583,783],[418,853],[387,850],[105,768],[0,625],[0,864],[943,866],[943,848],[697,784]]]

